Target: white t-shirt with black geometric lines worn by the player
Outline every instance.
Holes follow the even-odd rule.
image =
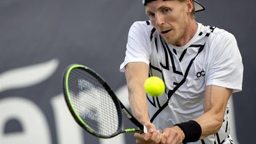
[[[207,85],[227,87],[233,92],[242,90],[238,44],[223,29],[198,23],[197,32],[185,46],[173,46],[165,43],[149,21],[138,21],[130,27],[126,47],[120,71],[124,72],[127,63],[142,61],[150,66],[150,76],[165,81],[162,96],[147,96],[150,117],[158,130],[202,115]],[[228,112],[227,108],[218,133],[196,143],[228,143]]]

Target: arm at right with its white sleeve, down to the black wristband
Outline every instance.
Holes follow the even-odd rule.
[[[220,130],[231,93],[242,90],[242,57],[236,38],[223,31],[214,41],[210,69],[205,74],[208,86],[205,87],[204,114],[194,119],[202,128],[200,139]]]

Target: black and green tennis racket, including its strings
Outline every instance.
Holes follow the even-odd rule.
[[[124,132],[147,132],[104,79],[86,66],[73,64],[66,68],[63,93],[76,122],[94,136],[111,138]],[[122,113],[138,128],[122,128]]]

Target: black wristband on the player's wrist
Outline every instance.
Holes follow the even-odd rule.
[[[184,123],[175,124],[184,132],[183,143],[195,142],[200,139],[202,130],[197,121],[190,120]]]

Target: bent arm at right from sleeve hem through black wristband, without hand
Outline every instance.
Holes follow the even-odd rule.
[[[184,132],[184,142],[198,141],[220,130],[231,92],[216,85],[206,87],[203,115],[176,125]]]

